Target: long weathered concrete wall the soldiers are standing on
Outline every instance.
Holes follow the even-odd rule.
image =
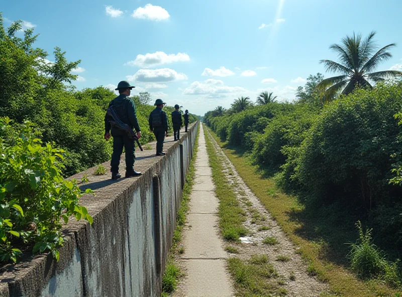
[[[82,198],[93,224],[70,220],[57,263],[42,254],[1,268],[0,297],[160,296],[197,129],[198,123],[180,141],[165,143],[164,157],[137,154],[139,178],[95,178],[94,168],[71,177],[91,176],[81,188],[95,190]]]

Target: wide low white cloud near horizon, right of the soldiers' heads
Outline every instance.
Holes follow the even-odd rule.
[[[184,95],[219,95],[226,93],[245,93],[247,90],[243,87],[225,86],[222,80],[207,79],[204,83],[194,81],[184,91]]]

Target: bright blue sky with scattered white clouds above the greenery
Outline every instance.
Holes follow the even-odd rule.
[[[400,0],[103,1],[0,0],[0,11],[6,26],[35,27],[48,60],[55,46],[81,60],[78,89],[128,79],[195,114],[264,90],[294,99],[310,74],[331,75],[319,60],[336,60],[328,47],[353,31],[397,43],[378,70],[402,70]]]

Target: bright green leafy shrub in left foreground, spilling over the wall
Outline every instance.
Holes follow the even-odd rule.
[[[82,192],[61,175],[63,151],[52,144],[41,145],[30,123],[9,129],[2,118],[0,130],[14,130],[15,144],[0,142],[0,260],[17,261],[19,246],[33,246],[33,252],[50,250],[58,260],[63,244],[60,220],[74,215],[92,223],[79,205]],[[86,191],[90,193],[90,190]],[[27,198],[29,197],[29,198]]]

